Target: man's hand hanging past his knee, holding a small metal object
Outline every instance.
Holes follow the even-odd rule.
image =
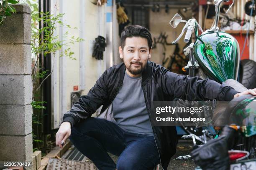
[[[61,140],[66,141],[71,134],[71,124],[70,122],[61,123],[58,132],[56,133],[56,146],[62,148]]]

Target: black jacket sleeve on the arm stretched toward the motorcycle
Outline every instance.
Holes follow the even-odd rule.
[[[170,71],[165,72],[162,81],[164,81],[164,90],[168,95],[184,100],[230,101],[238,93],[225,83],[220,84],[210,79],[202,80],[200,77],[178,75]]]

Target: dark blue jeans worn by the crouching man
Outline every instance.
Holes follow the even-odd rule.
[[[130,133],[96,117],[82,120],[71,131],[74,146],[99,170],[153,170],[160,164],[153,136]],[[117,165],[107,152],[119,156]]]

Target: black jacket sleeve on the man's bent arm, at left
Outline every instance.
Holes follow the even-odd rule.
[[[88,94],[82,95],[72,106],[71,110],[64,114],[62,122],[68,121],[71,123],[71,127],[73,127],[81,119],[92,116],[103,105],[107,99],[106,74],[107,71],[100,76]]]

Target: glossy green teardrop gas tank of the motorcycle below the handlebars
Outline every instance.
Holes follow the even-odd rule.
[[[240,61],[239,44],[230,34],[208,31],[194,43],[194,56],[202,70],[213,80],[237,80]]]

